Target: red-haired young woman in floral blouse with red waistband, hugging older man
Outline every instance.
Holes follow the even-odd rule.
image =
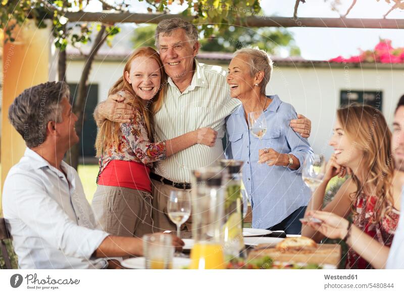
[[[153,162],[194,144],[212,146],[216,141],[216,131],[201,128],[153,142],[153,115],[163,104],[166,84],[159,54],[142,47],[129,57],[123,76],[110,90],[109,95],[129,95],[135,110],[131,123],[106,120],[97,133],[100,166],[92,207],[98,222],[111,234],[140,237],[153,231],[149,178]]]

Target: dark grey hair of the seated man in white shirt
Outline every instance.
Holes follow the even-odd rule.
[[[25,89],[14,99],[9,108],[9,120],[23,137],[28,148],[42,144],[46,139],[49,121],[62,122],[58,105],[63,98],[69,99],[66,82],[46,82]]]

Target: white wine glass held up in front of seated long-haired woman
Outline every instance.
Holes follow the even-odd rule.
[[[312,191],[312,198],[313,194],[316,191],[317,187],[321,184],[323,181],[323,178],[325,176],[325,171],[326,171],[326,162],[324,155],[322,154],[312,154],[309,155],[303,166],[302,166],[302,178],[305,184],[310,188]],[[314,201],[312,199],[311,201],[312,205],[310,207],[311,210],[314,208]],[[301,219],[304,221],[311,221],[311,222],[321,222],[317,218],[309,217],[305,219]]]

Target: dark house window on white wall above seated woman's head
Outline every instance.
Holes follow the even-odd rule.
[[[382,111],[383,92],[382,91],[346,91],[341,90],[340,107],[351,103],[359,103],[373,106]]]

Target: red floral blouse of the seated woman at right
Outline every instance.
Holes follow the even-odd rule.
[[[369,236],[379,241],[379,243],[390,247],[398,225],[400,212],[393,208],[380,222],[372,223],[375,204],[376,197],[368,197],[362,193],[355,204],[358,215],[354,219],[354,224]],[[345,268],[372,269],[373,267],[354,250],[349,248]]]

